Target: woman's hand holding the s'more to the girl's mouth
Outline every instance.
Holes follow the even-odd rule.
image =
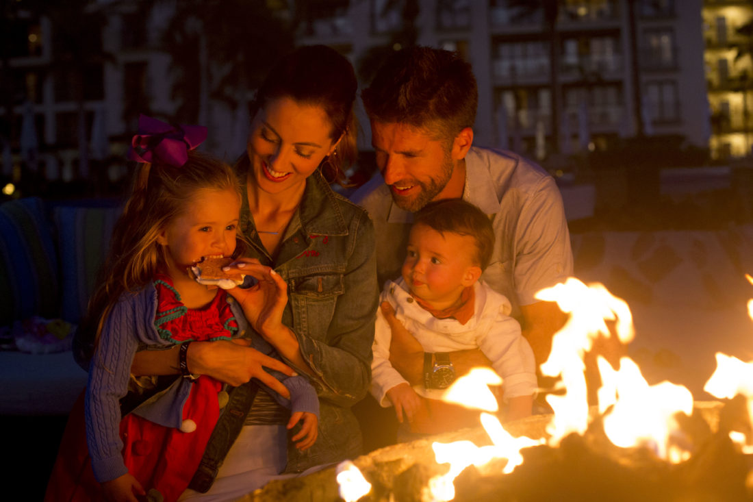
[[[287,332],[282,324],[282,312],[288,303],[288,285],[279,274],[261,265],[257,259],[241,258],[224,268],[233,269],[258,281],[248,289],[236,287],[228,292],[241,305],[248,323],[271,343],[281,332]]]

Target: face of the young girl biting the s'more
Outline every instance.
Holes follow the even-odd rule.
[[[157,237],[165,248],[167,273],[175,280],[203,256],[230,256],[235,251],[240,197],[232,189],[201,188],[187,200]]]

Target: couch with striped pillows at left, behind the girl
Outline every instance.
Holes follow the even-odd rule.
[[[119,213],[114,200],[0,204],[0,330],[18,335],[32,317],[78,323]],[[87,373],[71,350],[39,348],[0,350],[0,415],[67,415],[84,389]]]

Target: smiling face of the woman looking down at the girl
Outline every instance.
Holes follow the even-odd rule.
[[[288,97],[268,102],[252,121],[246,147],[258,188],[270,193],[303,189],[306,178],[337,145],[331,132],[319,106]]]

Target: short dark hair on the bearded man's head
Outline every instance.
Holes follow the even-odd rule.
[[[408,124],[444,139],[473,127],[478,106],[471,65],[456,52],[432,47],[396,51],[361,98],[373,121]]]

